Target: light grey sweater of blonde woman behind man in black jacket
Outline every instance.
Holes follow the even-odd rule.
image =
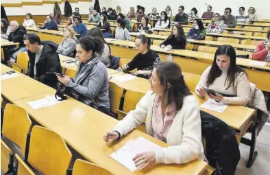
[[[60,45],[58,45],[57,53],[64,56],[73,56],[73,51],[75,51],[77,41],[73,38],[64,38]]]

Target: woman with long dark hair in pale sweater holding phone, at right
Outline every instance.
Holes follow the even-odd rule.
[[[205,89],[212,89],[214,93],[207,94]],[[212,66],[201,75],[195,92],[224,104],[245,106],[249,102],[249,80],[246,71],[236,65],[234,47],[222,45],[217,49]]]

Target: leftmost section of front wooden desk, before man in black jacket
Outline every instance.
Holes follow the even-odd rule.
[[[1,74],[12,70],[10,67],[1,64]],[[16,73],[19,72],[16,71]],[[22,73],[19,74],[21,76],[16,78],[1,80],[1,94],[10,102],[52,91],[49,86],[29,78]]]

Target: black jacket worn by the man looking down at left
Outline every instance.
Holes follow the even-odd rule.
[[[60,59],[56,53],[58,45],[51,41],[42,41],[41,45],[43,45],[43,49],[38,62],[36,62],[36,78],[34,78],[36,53],[27,51],[30,62],[27,75],[48,86],[56,87],[58,80],[53,72],[61,73],[62,71]]]

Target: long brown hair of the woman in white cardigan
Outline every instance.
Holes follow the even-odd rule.
[[[181,67],[172,61],[160,62],[154,67],[160,85],[164,88],[162,103],[164,106],[175,103],[176,110],[180,110],[183,106],[184,97],[192,95],[184,81]]]

